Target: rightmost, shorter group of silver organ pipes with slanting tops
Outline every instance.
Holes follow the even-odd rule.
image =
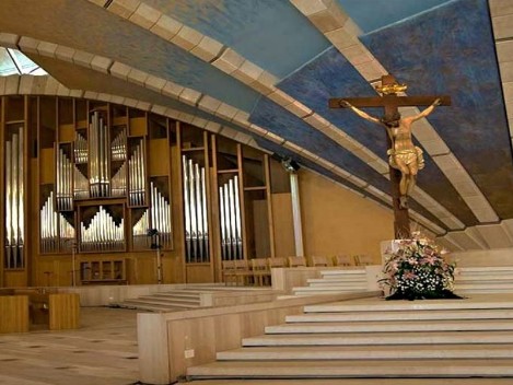
[[[223,260],[242,259],[241,200],[237,175],[219,187],[219,213],[221,257]]]

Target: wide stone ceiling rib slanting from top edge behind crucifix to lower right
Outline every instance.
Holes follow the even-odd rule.
[[[374,58],[366,47],[360,43],[358,35],[361,34],[361,31],[359,31],[358,26],[346,14],[337,1],[290,0],[290,2],[323,33],[328,40],[331,42],[340,54],[342,54],[348,61],[353,65],[353,67],[368,82],[374,83],[382,75],[387,74],[386,69]],[[342,14],[345,16],[342,16]],[[400,110],[401,114],[405,115],[419,114],[419,110],[416,107],[401,108]],[[465,171],[456,156],[451,153],[448,147],[444,143],[429,121],[423,118],[421,121],[419,120],[417,125],[422,125],[423,130],[420,132],[421,135],[418,136],[416,126],[413,136],[433,158],[436,165],[447,177],[456,191],[459,192],[465,203],[476,215],[477,220],[481,223],[499,221],[499,217],[478,186]],[[429,140],[427,140],[425,137],[429,137]],[[436,158],[442,153],[452,159],[451,165],[446,165],[441,159]]]

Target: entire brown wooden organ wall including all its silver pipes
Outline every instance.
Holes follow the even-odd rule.
[[[0,287],[215,282],[273,256],[269,155],[106,102],[1,107]]]

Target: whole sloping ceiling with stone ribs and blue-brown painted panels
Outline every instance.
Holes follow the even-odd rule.
[[[375,96],[386,73],[408,95],[451,95],[413,128],[427,165],[411,215],[453,249],[513,246],[511,1],[3,0],[0,33],[51,75],[0,80],[3,94],[150,109],[386,207],[384,130],[328,98]]]

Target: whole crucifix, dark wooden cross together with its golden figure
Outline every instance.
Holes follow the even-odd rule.
[[[406,91],[390,74],[382,77],[382,85],[376,88],[381,96],[374,97],[334,97],[330,108],[350,108],[360,117],[380,124],[387,132],[388,165],[390,175],[392,200],[394,208],[394,233],[397,240],[410,238],[408,195],[415,188],[417,172],[424,165],[422,150],[411,141],[411,124],[431,114],[439,106],[451,105],[450,96],[399,96]],[[417,116],[401,118],[398,107],[429,106]],[[375,118],[358,107],[384,107],[385,115]]]

